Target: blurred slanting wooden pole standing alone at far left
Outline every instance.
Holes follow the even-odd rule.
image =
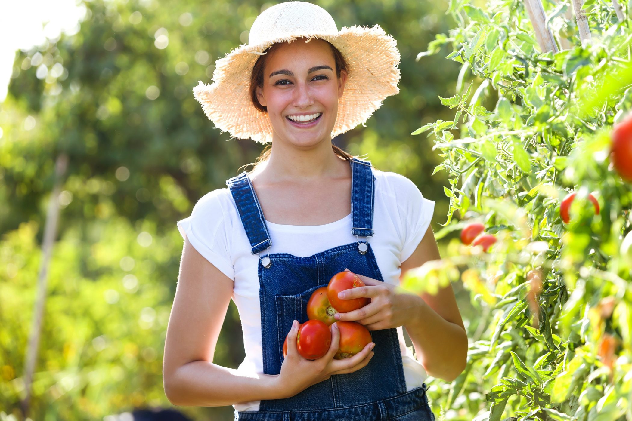
[[[42,332],[42,318],[44,316],[44,304],[46,304],[46,284],[48,280],[48,265],[51,260],[52,246],[54,246],[59,220],[59,191],[61,189],[63,175],[68,167],[68,155],[61,153],[55,163],[55,185],[52,189],[51,199],[46,212],[46,223],[44,225],[44,239],[42,240],[42,262],[37,275],[37,299],[33,309],[33,319],[31,333],[28,339],[27,358],[24,369],[25,398],[21,401],[21,409],[25,418],[28,417],[31,386],[33,372],[35,372],[35,362],[39,348],[40,335]]]

